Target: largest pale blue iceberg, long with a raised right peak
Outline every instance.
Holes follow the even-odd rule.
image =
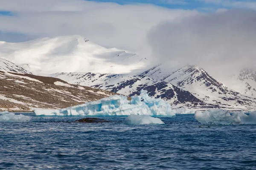
[[[140,91],[139,96],[113,95],[95,102],[87,102],[64,109],[37,109],[36,116],[175,116],[171,105],[163,99],[148,96],[147,91]]]

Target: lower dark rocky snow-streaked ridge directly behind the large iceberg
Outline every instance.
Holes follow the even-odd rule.
[[[93,88],[101,88],[115,93],[133,96],[139,94],[142,89],[147,90],[150,96],[161,97],[172,105],[183,104],[189,107],[205,106],[205,103],[197,99],[188,91],[183,91],[171,83],[155,81],[143,75],[128,74],[94,74],[94,73],[57,73],[52,77],[64,79],[71,84],[86,85]]]

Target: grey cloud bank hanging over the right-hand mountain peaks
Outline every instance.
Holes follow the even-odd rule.
[[[148,35],[156,62],[196,64],[217,78],[255,67],[256,11],[230,10],[166,22]]]

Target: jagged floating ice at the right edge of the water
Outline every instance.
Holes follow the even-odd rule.
[[[195,119],[202,125],[246,125],[256,124],[256,111],[249,112],[239,111],[230,114],[222,109],[210,109],[208,111],[195,112]]]

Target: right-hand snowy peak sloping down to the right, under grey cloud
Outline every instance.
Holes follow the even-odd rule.
[[[196,65],[186,65],[169,71],[157,65],[143,75],[159,81],[172,83],[183,90],[191,92],[198,99],[222,108],[255,108],[256,99],[248,97],[228,88],[223,83],[211,77],[204,69]]]

